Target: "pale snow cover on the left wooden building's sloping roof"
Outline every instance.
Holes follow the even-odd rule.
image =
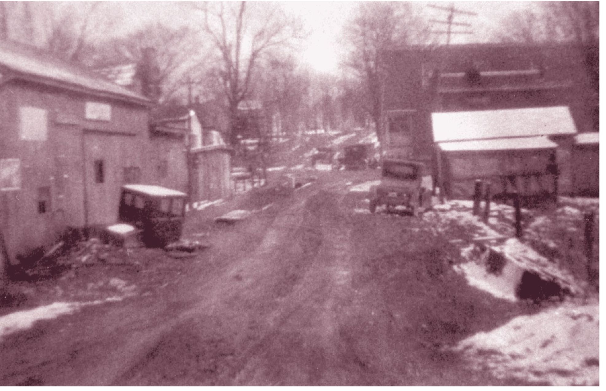
[[[65,84],[78,85],[91,91],[148,101],[146,97],[127,90],[127,88],[114,84],[109,80],[91,76],[75,67],[53,61],[41,55],[27,53],[25,50],[18,50],[18,48],[9,48],[7,45],[0,45],[0,65],[4,65],[19,73],[44,77],[45,79]]]

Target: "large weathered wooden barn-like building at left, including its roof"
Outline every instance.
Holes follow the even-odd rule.
[[[149,105],[78,68],[0,45],[0,229],[11,259],[68,226],[116,222],[120,186],[150,177]]]

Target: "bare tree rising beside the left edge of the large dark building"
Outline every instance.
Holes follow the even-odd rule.
[[[382,53],[391,48],[427,43],[427,25],[408,2],[361,2],[355,17],[345,27],[345,39],[350,45],[345,65],[366,84],[368,113],[382,142],[385,134]]]

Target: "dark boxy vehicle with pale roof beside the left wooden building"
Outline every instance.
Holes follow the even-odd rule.
[[[187,194],[153,185],[124,185],[118,219],[141,229],[147,247],[164,247],[179,240]]]

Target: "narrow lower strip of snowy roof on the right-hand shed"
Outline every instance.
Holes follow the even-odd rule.
[[[507,151],[545,150],[556,148],[558,144],[544,136],[513,137],[510,139],[470,140],[438,143],[442,151]]]

